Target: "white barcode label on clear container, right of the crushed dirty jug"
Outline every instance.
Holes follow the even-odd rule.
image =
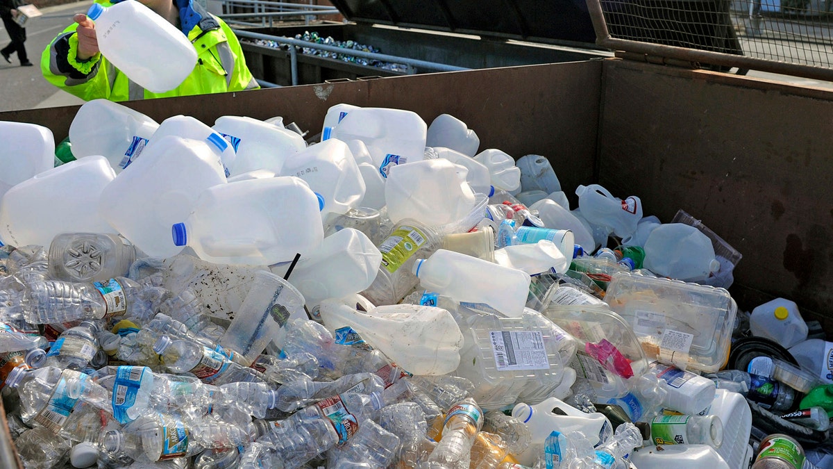
[[[489,338],[497,371],[550,369],[540,330],[492,330]]]

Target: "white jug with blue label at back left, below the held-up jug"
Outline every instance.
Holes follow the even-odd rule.
[[[143,113],[107,99],[93,99],[75,113],[69,124],[69,141],[76,158],[102,155],[118,174],[142,153],[158,128],[159,124]]]

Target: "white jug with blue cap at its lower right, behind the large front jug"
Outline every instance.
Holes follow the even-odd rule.
[[[347,144],[329,139],[293,154],[283,164],[282,176],[307,181],[324,198],[322,218],[358,207],[365,194],[364,179]]]

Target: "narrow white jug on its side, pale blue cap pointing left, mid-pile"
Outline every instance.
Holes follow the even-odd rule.
[[[411,271],[426,290],[501,315],[522,315],[529,295],[526,272],[450,250],[416,260]]]

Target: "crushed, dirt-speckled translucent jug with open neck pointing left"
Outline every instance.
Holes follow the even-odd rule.
[[[361,312],[340,302],[321,304],[324,325],[332,331],[356,330],[368,345],[382,351],[415,375],[445,375],[460,364],[460,326],[447,310],[421,305],[387,305]]]

